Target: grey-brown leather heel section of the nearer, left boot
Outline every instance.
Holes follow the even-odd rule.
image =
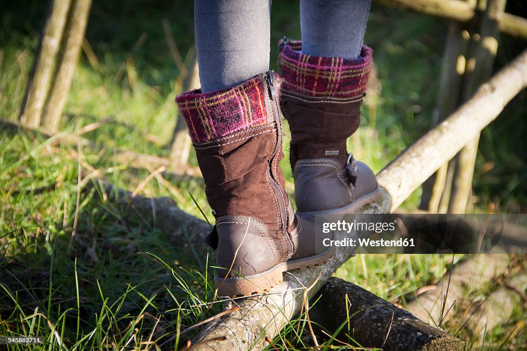
[[[283,262],[276,243],[266,225],[256,218],[225,216],[216,222],[218,249],[216,265],[218,277],[228,278],[253,275]]]

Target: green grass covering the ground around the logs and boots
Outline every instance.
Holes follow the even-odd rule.
[[[0,114],[15,119],[45,9],[39,2],[2,6]],[[0,335],[41,335],[46,349],[73,350],[154,349],[151,342],[161,344],[175,334],[166,347],[179,349],[198,332],[184,330],[221,310],[219,304],[207,305],[213,295],[212,257],[182,252],[139,216],[125,216],[118,202],[105,198],[90,179],[97,173],[133,190],[149,176],[147,170],[115,161],[114,147],[168,155],[177,114],[173,98],[182,87],[161,19],[178,14],[170,26],[180,52],[186,53],[192,41],[192,6],[158,0],[149,3],[148,16],[138,11],[142,6],[140,0],[96,2],[92,10],[86,36],[96,60],[83,57],[77,66],[61,128],[74,133],[109,117],[111,123],[84,135],[103,146],[100,152],[34,133],[0,131]],[[296,8],[295,3],[275,2],[272,42],[284,34],[299,37],[299,19],[292,15]],[[380,91],[369,94],[362,127],[349,146],[376,172],[430,128],[435,101],[430,92],[437,89],[445,28],[431,17],[373,7],[366,43],[375,49]],[[520,49],[511,49],[508,39],[502,44],[506,55],[497,65]],[[272,48],[271,62],[276,55]],[[525,94],[505,111],[507,118],[482,134],[474,184],[475,206],[481,211],[493,202],[503,212],[526,212],[524,100]],[[287,149],[285,153],[282,168],[291,181]],[[194,156],[191,163],[197,165]],[[196,216],[201,209],[210,213],[202,180],[168,180],[175,190],[153,179],[141,193],[175,198]],[[416,190],[404,207],[415,208],[418,199]],[[435,283],[450,265],[450,258],[441,255],[359,255],[336,276],[404,303],[411,297],[408,292]],[[492,286],[467,288],[465,303],[490,291]],[[456,332],[461,327],[456,321],[465,320],[465,313],[453,310],[443,327]],[[458,336],[476,349],[521,348],[527,341],[526,316],[527,309],[518,304],[508,321],[486,330],[484,337],[467,328]],[[306,316],[299,316],[269,349],[313,346],[306,323]]]

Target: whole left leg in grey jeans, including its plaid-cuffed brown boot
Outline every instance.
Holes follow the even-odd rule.
[[[216,225],[219,295],[269,290],[282,273],[325,262],[295,216],[280,160],[278,81],[269,66],[269,0],[196,2],[202,90],[176,98]]]

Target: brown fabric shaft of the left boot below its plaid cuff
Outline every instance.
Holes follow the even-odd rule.
[[[276,128],[269,124],[214,143],[194,145],[207,199],[218,217],[256,217],[271,232],[280,230],[280,209],[266,175],[275,134]]]

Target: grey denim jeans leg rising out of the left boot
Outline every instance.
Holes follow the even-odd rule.
[[[269,0],[196,0],[194,27],[202,93],[269,70]]]

